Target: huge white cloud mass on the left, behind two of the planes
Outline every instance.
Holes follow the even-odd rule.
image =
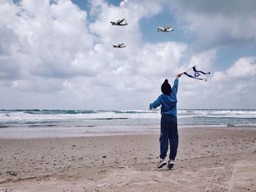
[[[162,4],[155,1],[123,1],[120,7],[91,1],[94,23],[88,23],[87,13],[71,1],[2,5],[1,85],[31,97],[54,93],[84,99],[84,106],[91,106],[91,99],[102,106],[121,98],[129,104],[134,95],[143,97],[158,88],[159,78],[176,74],[187,50],[177,42],[142,44],[139,21],[161,11]],[[110,25],[119,18],[129,25]],[[113,43],[122,40],[127,47],[113,49]],[[102,103],[107,97],[110,103]],[[121,107],[120,101],[115,106]]]

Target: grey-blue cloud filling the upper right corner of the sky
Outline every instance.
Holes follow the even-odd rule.
[[[177,20],[183,23],[199,50],[220,45],[256,41],[256,1],[171,1]]]

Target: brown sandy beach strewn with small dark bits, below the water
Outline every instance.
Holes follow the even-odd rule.
[[[256,191],[256,128],[179,128],[173,169],[159,134],[0,139],[2,191]]]

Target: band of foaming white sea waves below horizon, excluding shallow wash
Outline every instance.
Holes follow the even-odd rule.
[[[159,110],[0,110],[8,126],[159,126]],[[255,125],[256,110],[178,110],[181,126]]]

